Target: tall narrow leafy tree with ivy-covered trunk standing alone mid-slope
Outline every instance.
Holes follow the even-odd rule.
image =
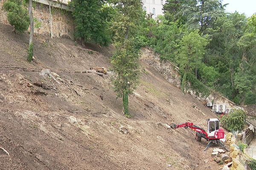
[[[117,73],[113,80],[117,97],[122,97],[125,116],[130,116],[128,110],[128,94],[131,94],[139,78],[139,49],[134,43],[137,26],[143,16],[140,0],[112,0],[117,11],[112,29],[115,32],[115,54],[111,59]]]

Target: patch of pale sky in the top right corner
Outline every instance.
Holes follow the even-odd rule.
[[[223,0],[222,4],[229,3],[226,7],[227,12],[238,11],[244,13],[247,17],[256,13],[256,0]]]

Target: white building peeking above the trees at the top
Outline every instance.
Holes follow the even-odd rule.
[[[163,15],[163,5],[166,3],[166,0],[142,0],[142,2],[144,11],[147,14],[153,14],[153,18]]]

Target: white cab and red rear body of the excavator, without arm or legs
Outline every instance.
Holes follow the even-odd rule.
[[[223,139],[224,131],[220,129],[220,121],[214,118],[208,119],[207,122],[209,139]]]

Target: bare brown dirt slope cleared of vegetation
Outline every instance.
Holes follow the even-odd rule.
[[[165,129],[159,122],[195,122],[206,128],[215,117],[192,96],[166,82],[142,62],[140,85],[130,95],[132,118],[122,115],[111,75],[75,74],[93,66],[111,68],[108,49],[76,47],[72,40],[35,38],[37,63],[26,61],[28,35],[0,24],[1,170],[205,170],[218,169],[206,141],[190,129]],[[64,82],[40,72],[49,68]],[[71,80],[71,81],[70,81]],[[44,82],[45,90],[28,83]],[[38,91],[45,94],[38,94]],[[204,112],[195,110],[195,104]],[[128,133],[120,132],[125,127]],[[124,128],[123,128],[124,129]]]

